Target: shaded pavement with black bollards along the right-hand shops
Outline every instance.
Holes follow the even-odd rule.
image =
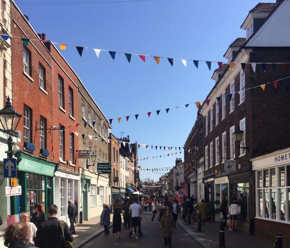
[[[181,218],[177,223],[182,227],[192,238],[194,238],[204,248],[218,248],[219,247],[219,222],[205,222],[202,225],[202,232],[197,233],[197,222],[191,221],[191,225],[187,225]],[[255,236],[250,236],[249,233],[239,231],[233,233],[224,228],[225,247],[247,247],[247,248],[273,248],[273,242],[268,242],[264,239],[259,239]]]

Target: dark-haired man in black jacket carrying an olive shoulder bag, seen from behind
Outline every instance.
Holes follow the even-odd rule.
[[[48,220],[42,222],[36,232],[35,246],[39,248],[64,248],[65,242],[73,241],[73,235],[68,228],[68,225],[64,225],[64,237],[62,236],[62,231],[59,226],[59,220],[56,218],[57,206],[52,204],[49,206]]]

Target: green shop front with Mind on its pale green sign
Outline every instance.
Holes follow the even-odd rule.
[[[25,211],[33,213],[33,205],[42,203],[47,207],[53,204],[53,177],[58,168],[57,163],[31,156],[22,151],[17,158],[17,184],[22,194],[10,197],[11,214]]]

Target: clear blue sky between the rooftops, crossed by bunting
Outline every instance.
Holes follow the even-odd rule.
[[[74,0],[15,0],[19,3],[73,2]],[[81,2],[82,0],[77,0]],[[97,0],[95,0],[97,1]],[[104,0],[106,1],[106,0]],[[108,0],[112,1],[112,0]],[[85,2],[85,1],[84,1]],[[86,2],[88,2],[86,0]],[[275,2],[274,0],[269,2]],[[99,4],[19,4],[29,17],[36,32],[46,33],[54,42],[93,47],[112,51],[186,58],[209,61],[226,61],[223,58],[229,44],[237,37],[245,37],[240,26],[258,1],[193,1],[153,0],[131,3]],[[195,104],[204,100],[214,82],[205,62],[199,69],[192,61],[185,67],[167,59],[157,65],[153,58],[144,63],[132,55],[129,64],[124,54],[113,60],[108,52],[99,58],[93,50],[84,49],[82,57],[76,48],[61,51],[108,119],[162,110],[139,115],[138,120],[123,117],[120,124],[113,120],[112,133],[120,137],[129,135],[131,142],[157,146],[183,146],[196,120]],[[174,107],[180,106],[178,111]],[[175,149],[171,152],[175,152]],[[140,147],[139,162],[142,168],[172,167],[177,156],[156,158],[169,153],[149,146]],[[140,178],[158,180],[160,174],[140,173]]]

